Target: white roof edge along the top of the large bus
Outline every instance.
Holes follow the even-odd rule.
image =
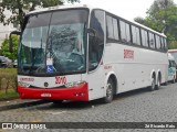
[[[42,8],[42,9],[38,9],[38,10],[34,10],[34,11],[31,11],[31,12],[29,12],[29,13],[27,13],[27,14],[45,12],[45,11],[54,11],[54,10],[60,10],[60,9],[74,9],[74,8],[87,8],[87,9],[90,9],[90,10],[100,9],[100,8],[93,8],[92,6],[87,6],[87,4],[66,4],[66,6],[55,6],[55,7],[50,7],[50,8]],[[101,10],[104,10],[104,9],[101,9]],[[106,10],[104,10],[104,11],[106,11]],[[106,11],[106,12],[108,12],[108,11]],[[111,13],[111,12],[108,12],[108,13]],[[112,14],[113,14],[113,13],[112,13]],[[114,14],[114,15],[117,15],[117,14]],[[122,16],[119,16],[119,15],[117,15],[117,16],[121,18],[121,19],[123,19],[123,20],[126,20],[126,19],[124,19],[124,18],[122,18]],[[143,29],[145,29],[145,30],[148,30],[148,31],[150,31],[150,32],[154,32],[154,33],[156,33],[156,34],[158,34],[158,35],[160,35],[160,36],[166,37],[166,35],[165,35],[164,33],[159,33],[159,32],[157,32],[157,31],[155,31],[155,30],[152,30],[150,28],[147,28],[147,26],[145,26],[145,25],[143,25],[143,24],[139,24],[139,23],[137,23],[137,22],[135,22],[135,21],[129,21],[129,20],[126,20],[126,21],[127,21],[127,22],[131,22],[131,23],[133,23],[133,24],[135,24],[135,25],[137,25],[137,26],[140,26],[140,28],[143,28]]]

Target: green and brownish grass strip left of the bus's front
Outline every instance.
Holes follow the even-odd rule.
[[[9,100],[19,97],[14,85],[15,76],[17,68],[0,68],[0,100]]]

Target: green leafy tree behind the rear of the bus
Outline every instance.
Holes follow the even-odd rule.
[[[177,42],[177,7],[173,0],[155,0],[146,12],[145,19],[135,18],[140,24],[163,32],[167,35],[167,41],[173,47]],[[176,44],[177,47],[177,44]]]

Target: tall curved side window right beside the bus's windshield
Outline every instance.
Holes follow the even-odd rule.
[[[94,10],[91,14],[91,29],[95,31],[95,35],[88,37],[88,69],[93,70],[97,67],[103,55],[104,47],[104,12]]]

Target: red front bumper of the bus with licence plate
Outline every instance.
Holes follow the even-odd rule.
[[[21,99],[88,101],[87,82],[71,88],[24,88],[18,86]]]

